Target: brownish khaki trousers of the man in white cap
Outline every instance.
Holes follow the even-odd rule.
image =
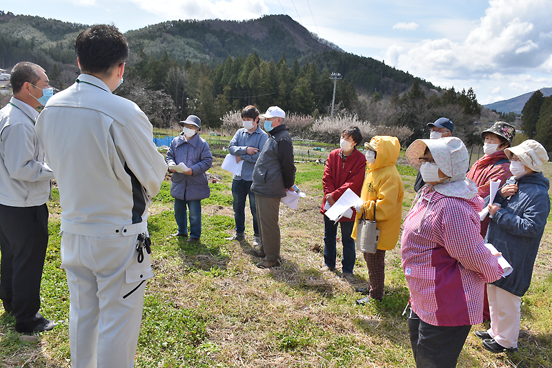
[[[280,198],[268,198],[255,194],[257,220],[259,221],[260,250],[265,260],[273,262],[280,256],[280,227],[278,225]]]

